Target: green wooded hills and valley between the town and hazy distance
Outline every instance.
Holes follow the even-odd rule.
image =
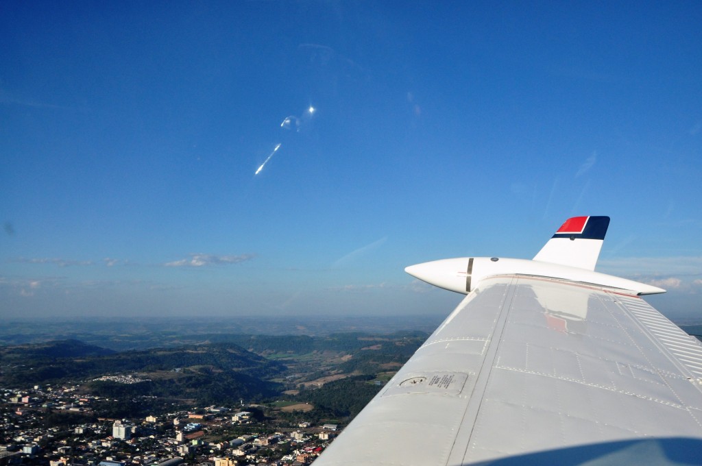
[[[79,340],[0,347],[0,386],[75,385],[94,414],[119,418],[173,408],[282,403],[283,417],[350,420],[428,334],[200,335],[201,344],[117,352]],[[277,406],[277,405],[272,405]],[[286,414],[286,412],[288,412]]]

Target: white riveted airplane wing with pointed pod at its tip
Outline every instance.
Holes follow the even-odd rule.
[[[407,271],[467,296],[315,466],[702,464],[702,345],[640,298],[660,288],[562,261]]]

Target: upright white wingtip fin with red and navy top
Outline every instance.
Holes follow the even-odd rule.
[[[572,217],[548,240],[534,260],[595,270],[609,217]]]

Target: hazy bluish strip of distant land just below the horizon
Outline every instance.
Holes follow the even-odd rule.
[[[117,319],[52,319],[51,321],[6,321],[0,326],[0,348],[52,340],[80,340],[115,351],[178,347],[215,341],[235,341],[232,335],[326,337],[334,333],[386,335],[420,330],[432,333],[442,315],[212,317],[208,319],[168,317]],[[246,345],[242,345],[247,347]]]

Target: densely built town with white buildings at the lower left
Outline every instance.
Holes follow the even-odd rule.
[[[96,420],[93,408],[106,400],[79,392],[77,386],[0,389],[0,465],[304,465],[333,435],[309,422],[262,423],[253,418],[253,410],[231,415],[222,407],[201,410],[206,414],[197,422],[183,411],[158,418]],[[78,422],[47,427],[49,416]]]

